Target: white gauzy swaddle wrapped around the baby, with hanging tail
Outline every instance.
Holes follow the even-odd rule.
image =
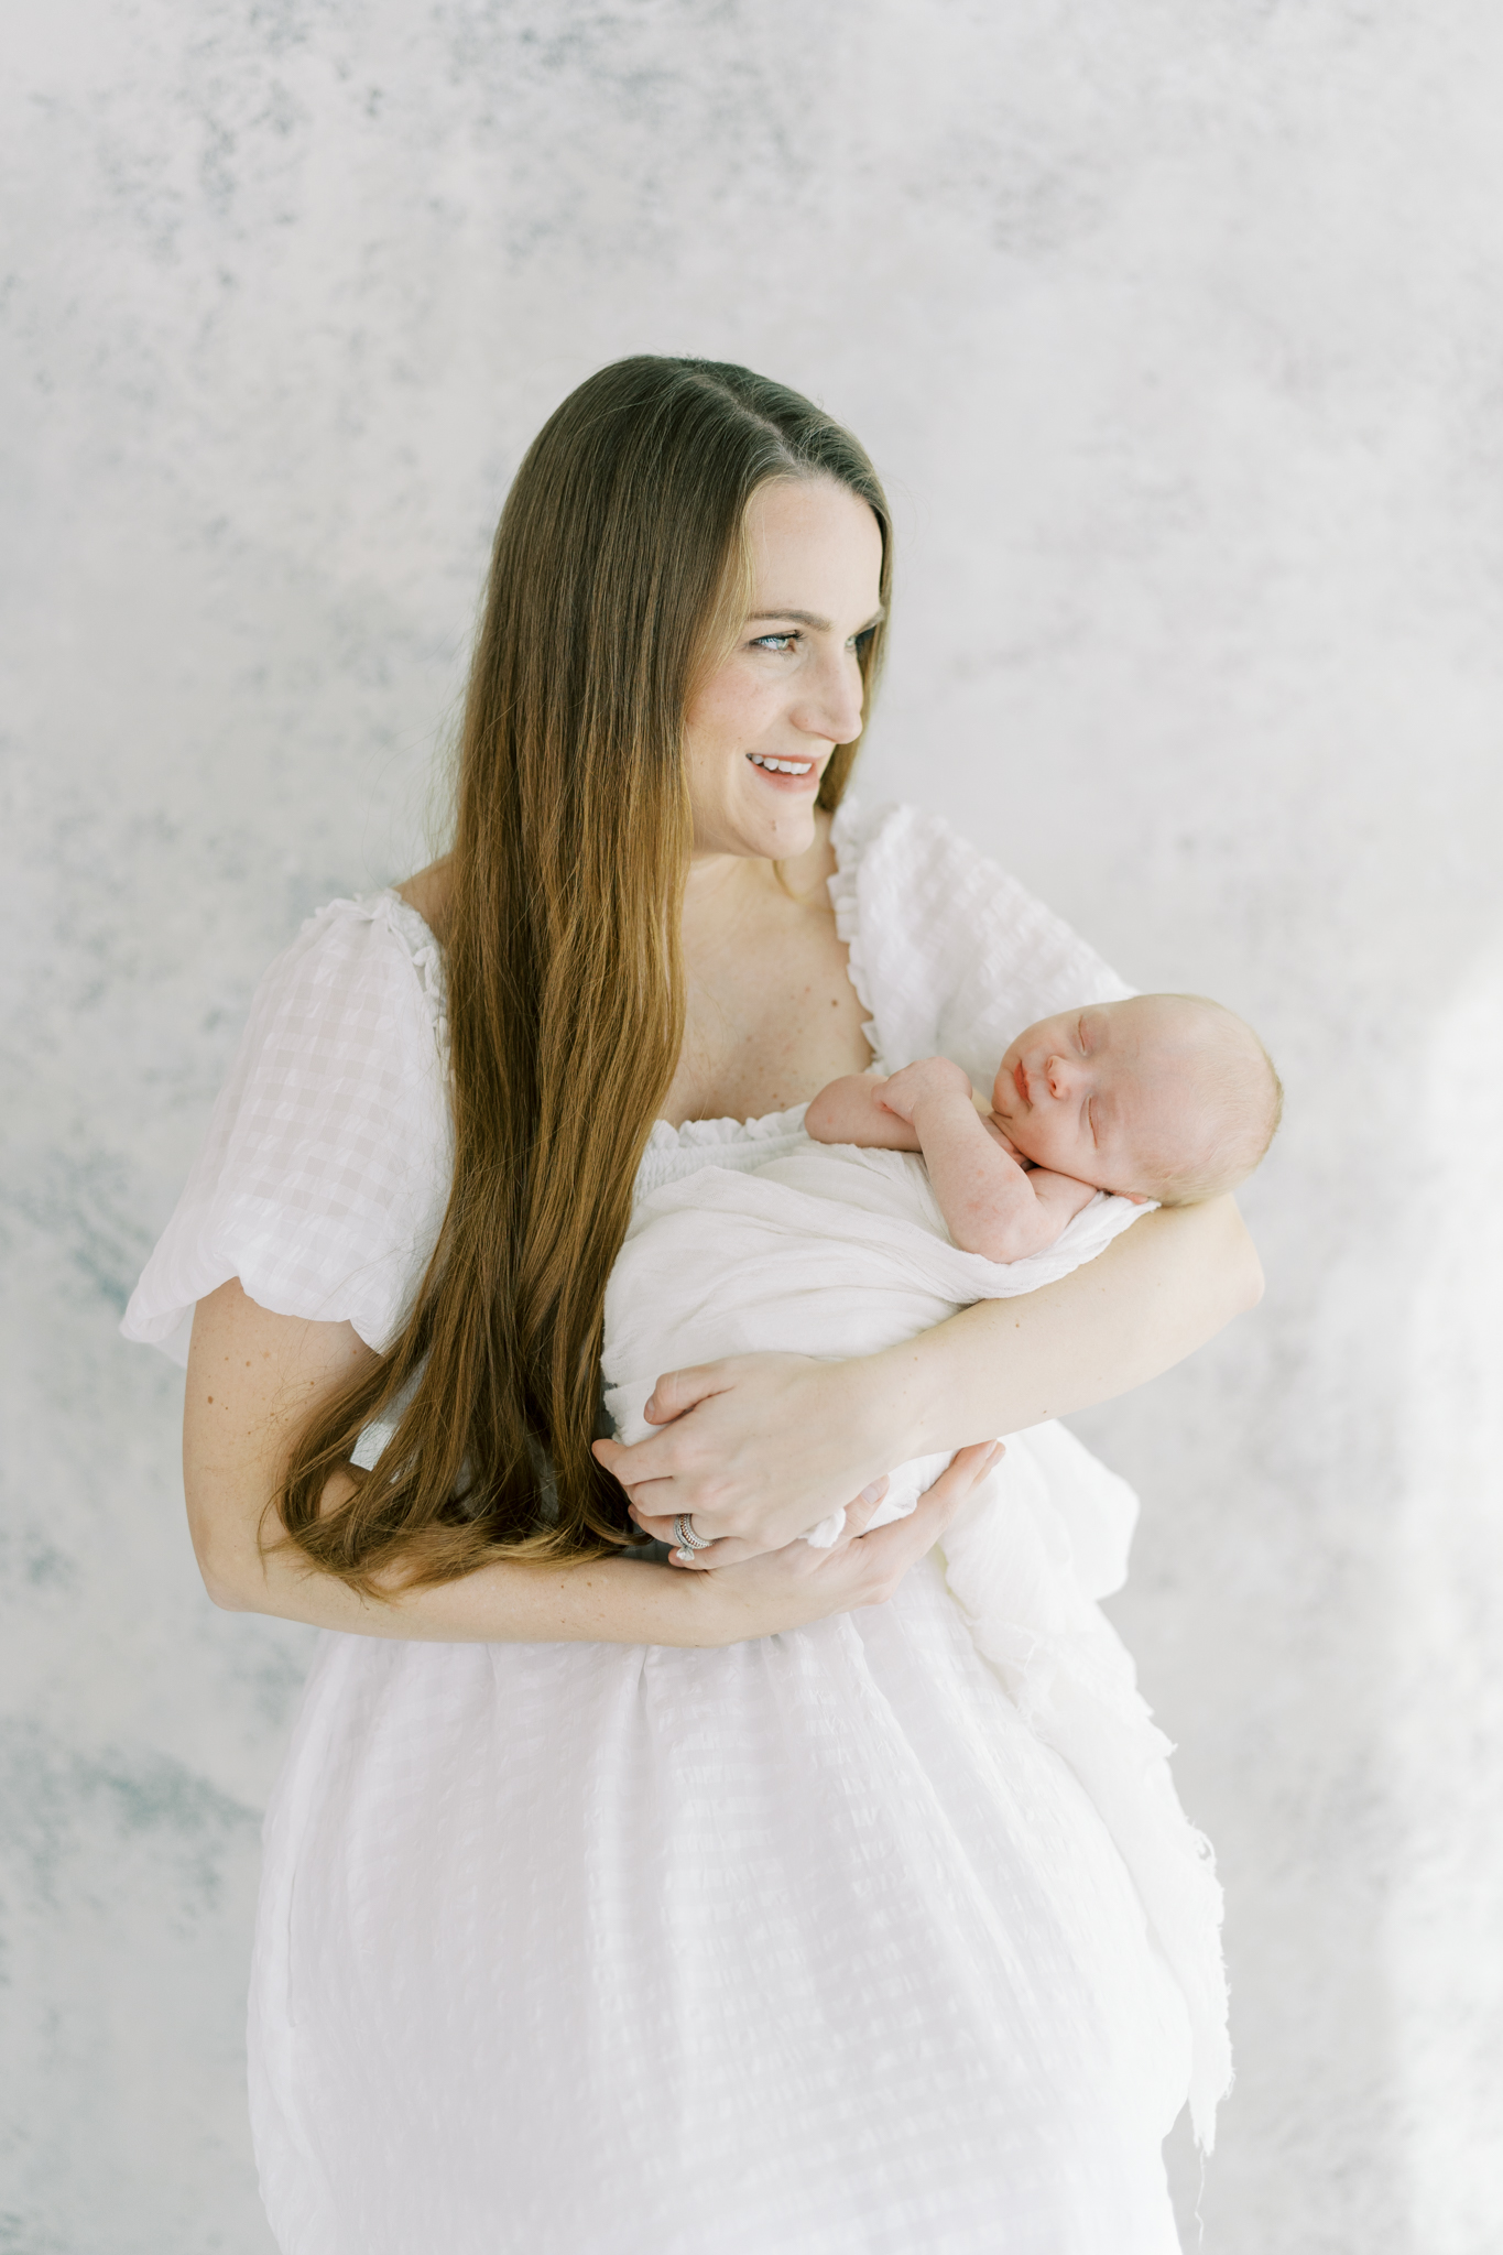
[[[804,1139],[755,1170],[703,1166],[647,1193],[606,1290],[602,1373],[622,1441],[653,1427],[660,1373],[777,1348],[845,1360],[1010,1299],[1095,1258],[1142,1211],[1097,1193],[1064,1236],[998,1265],[951,1243],[922,1159]],[[897,1466],[872,1524],[913,1511],[949,1457]],[[1106,1822],[1190,2009],[1190,2113],[1210,2145],[1230,2079],[1221,1890],[1183,1815],[1170,1741],[1095,1603],[1127,1576],[1136,1497],[1061,1425],[1007,1439],[944,1538],[944,1572],[978,1651]],[[838,1540],[843,1513],[809,1529]]]

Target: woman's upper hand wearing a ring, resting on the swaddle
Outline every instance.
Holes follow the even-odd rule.
[[[683,1511],[712,1542],[735,1536],[739,1558],[782,1549],[919,1454],[868,1360],[730,1355],[669,1371],[644,1416],[662,1432],[631,1448],[595,1443],[638,1524],[672,1542]],[[879,1491],[865,1500],[874,1509]]]

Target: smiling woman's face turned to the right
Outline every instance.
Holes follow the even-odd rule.
[[[746,510],[753,602],[690,699],[694,852],[791,861],[836,744],[861,733],[856,649],[881,618],[881,528],[834,478],[775,478]]]

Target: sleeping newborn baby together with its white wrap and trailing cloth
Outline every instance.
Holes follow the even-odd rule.
[[[1183,994],[1030,1026],[1003,1058],[989,1112],[944,1058],[890,1080],[836,1080],[807,1114],[759,1121],[771,1141],[726,1141],[726,1164],[638,1197],[606,1285],[602,1378],[615,1432],[651,1432],[644,1403],[660,1371],[768,1348],[874,1355],[978,1299],[1037,1292],[1095,1261],[1147,1200],[1188,1202],[1239,1182],[1275,1118],[1278,1080],[1248,1028]],[[892,1466],[870,1524],[913,1511],[946,1463],[940,1452]],[[1133,1511],[1127,1486],[1064,1425],[1037,1425],[1012,1434],[971,1491],[942,1567],[978,1655],[1118,1842],[1185,1991],[1201,2088],[1215,2095],[1228,2075],[1219,1892],[1174,1799],[1167,1741],[1097,1603],[1122,1585]],[[834,1511],[804,1540],[829,1547],[843,1527]],[[841,1615],[811,1635],[859,1637],[868,1621]],[[910,1633],[922,1657],[928,1630]],[[755,1666],[757,1646],[744,1651]],[[881,1730],[892,1759],[910,1759],[886,1707],[843,1727]]]

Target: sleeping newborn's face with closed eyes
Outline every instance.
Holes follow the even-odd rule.
[[[1034,1166],[1140,1195],[1183,1141],[1197,1062],[1194,1012],[1140,994],[1043,1017],[1016,1037],[991,1089],[991,1114]]]

